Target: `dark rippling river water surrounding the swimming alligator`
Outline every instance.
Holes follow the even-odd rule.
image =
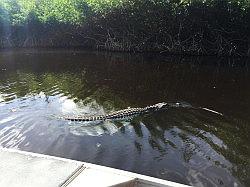
[[[250,63],[88,51],[0,52],[0,146],[194,186],[250,186]],[[65,114],[185,103],[88,126]]]

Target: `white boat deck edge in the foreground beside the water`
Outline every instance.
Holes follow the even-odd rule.
[[[1,187],[187,187],[179,183],[95,164],[0,149]]]

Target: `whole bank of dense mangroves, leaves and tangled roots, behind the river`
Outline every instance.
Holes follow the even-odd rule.
[[[1,0],[0,47],[250,54],[249,0]]]

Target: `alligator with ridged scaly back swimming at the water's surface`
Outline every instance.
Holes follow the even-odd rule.
[[[61,119],[70,121],[80,121],[80,122],[93,122],[93,121],[105,121],[105,120],[119,120],[124,118],[133,117],[136,115],[142,115],[150,112],[155,112],[158,110],[166,109],[169,107],[179,107],[180,103],[168,104],[168,103],[157,103],[155,105],[143,107],[143,108],[126,108],[116,112],[111,112],[104,115],[76,115],[76,116],[62,116]]]

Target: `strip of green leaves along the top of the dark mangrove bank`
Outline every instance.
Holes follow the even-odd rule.
[[[217,7],[222,11],[245,11],[250,7],[249,0],[1,0],[0,22],[22,25],[32,15],[42,23],[56,21],[59,23],[81,24],[87,16],[106,16],[117,9],[127,9],[144,15],[152,10],[171,7],[178,14],[188,8]],[[237,10],[235,9],[237,8]],[[242,12],[243,12],[242,11]],[[183,16],[183,15],[182,15]]]

